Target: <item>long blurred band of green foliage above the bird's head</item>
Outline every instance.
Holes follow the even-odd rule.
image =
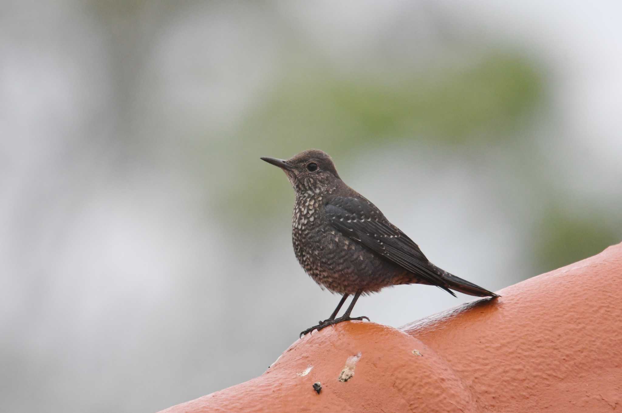
[[[490,53],[466,67],[378,77],[292,70],[267,92],[248,130],[287,143],[309,136],[332,151],[351,142],[417,137],[449,144],[498,141],[536,105],[541,77],[531,61]],[[293,149],[294,151],[299,148]]]

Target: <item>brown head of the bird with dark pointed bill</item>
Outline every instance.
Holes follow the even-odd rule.
[[[327,153],[318,149],[309,149],[289,159],[261,159],[280,167],[297,192],[310,190],[321,193],[335,187],[341,181],[333,160]]]

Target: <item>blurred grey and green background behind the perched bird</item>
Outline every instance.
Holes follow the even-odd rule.
[[[309,148],[491,290],[622,239],[618,1],[2,1],[0,399],[154,412],[339,300],[297,264]],[[471,297],[400,286],[400,326]]]

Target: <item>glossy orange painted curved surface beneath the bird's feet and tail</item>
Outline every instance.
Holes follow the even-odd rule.
[[[622,411],[621,284],[618,244],[399,330],[314,332],[258,378],[165,412]]]

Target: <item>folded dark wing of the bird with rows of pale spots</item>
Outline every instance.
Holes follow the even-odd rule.
[[[419,246],[368,200],[335,197],[324,206],[324,212],[330,224],[348,238],[415,273],[422,280],[449,291],[444,287],[447,283],[432,270]]]

